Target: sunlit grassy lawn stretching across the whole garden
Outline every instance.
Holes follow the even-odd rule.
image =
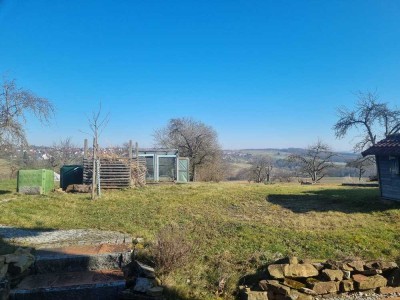
[[[377,188],[195,183],[109,191],[91,201],[57,192],[22,196],[15,182],[4,181],[0,211],[0,224],[116,230],[149,242],[163,226],[178,224],[193,251],[184,267],[163,280],[188,299],[215,298],[221,278],[227,279],[225,297],[232,298],[243,275],[288,254],[400,257],[400,204],[381,203]]]

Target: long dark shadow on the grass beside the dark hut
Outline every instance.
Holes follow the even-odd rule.
[[[400,209],[400,202],[381,201],[378,191],[377,188],[306,190],[301,194],[271,194],[266,200],[295,213],[338,211],[350,214]]]

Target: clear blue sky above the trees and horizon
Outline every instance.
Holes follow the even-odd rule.
[[[83,144],[101,101],[104,146],[187,116],[226,149],[350,150],[332,126],[354,92],[400,106],[400,2],[0,0],[0,74],[56,106],[31,144]]]

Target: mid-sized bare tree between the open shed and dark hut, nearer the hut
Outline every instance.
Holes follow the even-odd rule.
[[[298,165],[302,174],[307,175],[313,183],[316,183],[326,176],[329,169],[335,167],[332,162],[335,156],[329,145],[318,140],[309,146],[303,155],[292,154],[288,159]]]

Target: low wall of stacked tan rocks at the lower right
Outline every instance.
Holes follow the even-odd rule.
[[[302,261],[286,258],[267,267],[258,291],[241,287],[246,300],[311,300],[321,295],[360,291],[383,295],[400,293],[400,269],[380,260]]]

